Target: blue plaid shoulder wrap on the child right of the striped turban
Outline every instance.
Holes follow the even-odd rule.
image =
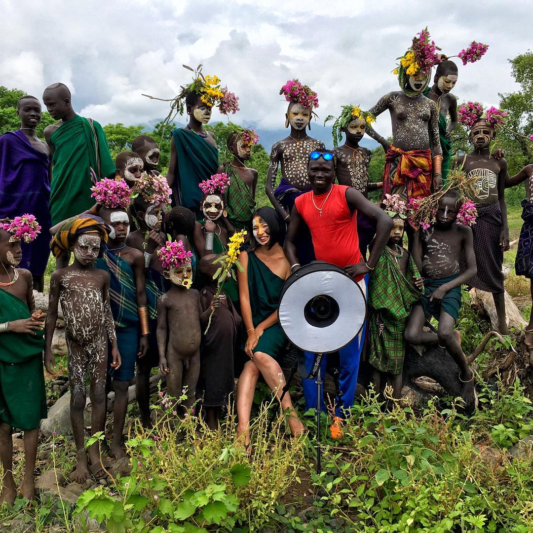
[[[130,264],[106,247],[94,267],[109,273],[109,303],[115,326],[126,328],[139,324],[135,278]]]

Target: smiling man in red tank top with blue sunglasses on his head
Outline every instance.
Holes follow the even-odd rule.
[[[366,296],[368,273],[374,270],[387,244],[393,226],[391,217],[353,187],[333,183],[335,160],[332,152],[311,152],[308,175],[312,190],[296,198],[285,239],[284,249],[290,270],[295,272],[300,268],[294,240],[300,228],[306,225],[311,232],[314,255],[317,260],[327,261],[343,268],[359,283]],[[366,262],[359,251],[358,211],[376,225],[374,246]],[[346,411],[353,405],[365,330],[366,325],[348,346],[339,350],[339,386],[342,395],[338,399],[333,424],[337,428]],[[314,354],[305,352],[305,366],[308,372],[311,370],[313,360]],[[322,375],[324,375],[326,357],[322,365]],[[317,391],[314,381],[304,378],[302,384],[306,407],[308,409],[316,407]],[[325,410],[323,399],[322,408]]]

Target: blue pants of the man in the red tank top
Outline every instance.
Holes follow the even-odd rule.
[[[365,287],[368,286],[368,275],[365,276]],[[362,283],[362,281],[360,282]],[[365,290],[365,296],[367,292]],[[339,388],[341,390],[341,398],[337,399],[335,415],[344,418],[346,415],[344,411],[348,411],[353,405],[353,397],[356,393],[357,386],[357,374],[359,372],[359,359],[361,352],[365,345],[367,323],[363,325],[359,335],[354,340],[341,348],[338,351],[340,356],[340,368],[339,368]],[[311,372],[313,366],[314,353],[304,352],[306,376]],[[326,361],[327,355],[322,359],[321,375],[324,378],[326,373]],[[305,409],[313,409],[317,407],[317,383],[316,379],[307,379],[302,377],[303,393],[305,396]],[[322,411],[326,411],[326,405],[324,403],[324,395],[321,398]]]

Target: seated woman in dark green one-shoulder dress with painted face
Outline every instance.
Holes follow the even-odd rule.
[[[285,377],[277,359],[287,343],[278,322],[278,302],[281,286],[290,275],[289,263],[281,247],[285,224],[272,207],[257,209],[252,217],[252,244],[239,260],[244,272],[237,272],[239,300],[246,342],[244,351],[250,358],[244,365],[237,384],[237,435],[245,433],[244,444],[249,452],[250,411],[255,385],[261,374],[278,397],[285,385]],[[281,408],[289,413],[290,433],[300,435],[304,430],[290,400],[285,394]]]

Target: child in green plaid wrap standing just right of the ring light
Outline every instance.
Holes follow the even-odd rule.
[[[394,227],[368,284],[369,350],[372,383],[379,392],[381,380],[390,378],[393,398],[400,398],[405,357],[403,330],[411,306],[423,295],[423,281],[413,256],[402,246],[406,205],[401,200],[385,207]]]

